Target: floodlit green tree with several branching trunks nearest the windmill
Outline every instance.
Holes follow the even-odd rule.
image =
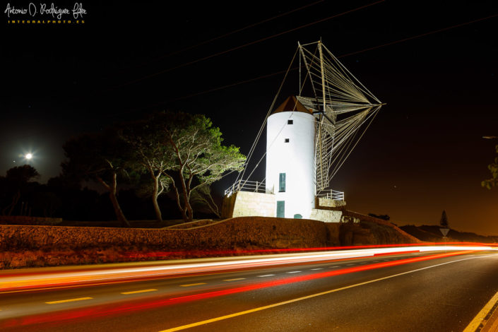
[[[221,144],[220,129],[202,114],[155,113],[122,132],[153,179],[155,207],[157,196],[171,186],[185,221],[194,217],[195,191],[199,191],[196,199],[205,197],[213,210],[218,209],[211,195],[206,198],[206,190],[225,172],[242,170],[246,159],[239,148]]]

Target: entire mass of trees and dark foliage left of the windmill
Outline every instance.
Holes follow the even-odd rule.
[[[185,221],[194,218],[194,209],[198,216],[219,216],[211,184],[242,170],[245,161],[239,148],[222,142],[210,119],[182,112],[155,113],[83,134],[64,143],[61,175],[47,184],[32,181],[39,174],[29,165],[0,177],[0,212],[114,219],[124,226],[130,225],[125,215],[160,222],[162,211]]]

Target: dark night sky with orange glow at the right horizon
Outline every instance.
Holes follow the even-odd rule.
[[[373,2],[84,1],[84,24],[32,25],[9,24],[4,13],[29,1],[2,1],[0,174],[30,151],[46,181],[59,174],[71,135],[159,109],[206,114],[247,153],[283,74],[209,90],[283,71],[298,41],[321,37],[387,103],[333,179],[349,208],[398,225],[436,224],[445,209],[452,227],[497,235],[498,190],[480,186],[498,143],[482,139],[498,136],[495,1],[388,0],[287,32]]]

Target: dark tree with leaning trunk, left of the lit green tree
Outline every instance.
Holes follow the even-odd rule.
[[[116,218],[130,227],[117,201],[117,179],[126,177],[131,162],[129,148],[112,129],[102,134],[84,134],[67,141],[64,146],[67,161],[62,163],[66,177],[93,180],[109,193]]]

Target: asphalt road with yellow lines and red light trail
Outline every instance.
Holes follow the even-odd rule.
[[[498,254],[427,254],[0,292],[0,330],[463,331],[498,292]]]

